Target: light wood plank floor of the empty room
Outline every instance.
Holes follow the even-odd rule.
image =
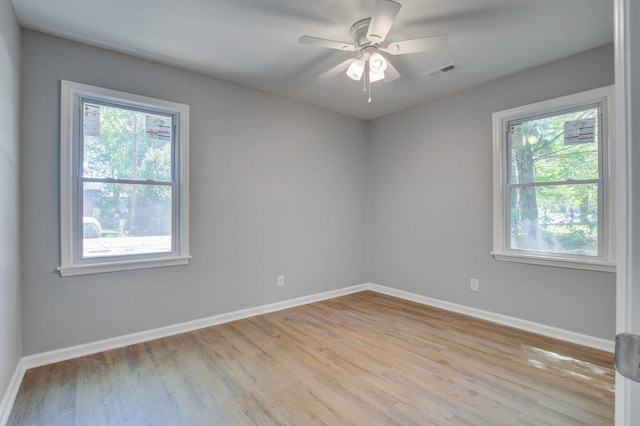
[[[613,424],[613,356],[362,292],[27,371],[9,425]]]

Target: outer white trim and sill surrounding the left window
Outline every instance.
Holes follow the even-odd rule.
[[[179,115],[176,134],[179,138],[177,181],[179,186],[176,219],[176,247],[170,255],[158,254],[136,258],[93,259],[78,262],[74,255],[74,247],[79,244],[75,239],[81,238],[74,232],[76,216],[76,176],[77,141],[79,128],[77,98],[80,96],[99,97],[115,103],[126,102],[141,108],[164,111]],[[126,271],[143,268],[186,265],[189,263],[189,106],[160,99],[139,96],[116,90],[104,89],[87,84],[61,80],[60,82],[60,266],[57,268],[61,276],[97,274],[104,272]]]

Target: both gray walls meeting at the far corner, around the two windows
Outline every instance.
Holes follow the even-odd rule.
[[[366,281],[613,336],[614,274],[489,254],[491,113],[611,84],[611,46],[369,123],[29,30],[22,56],[25,354]],[[188,266],[57,275],[60,79],[191,106]]]

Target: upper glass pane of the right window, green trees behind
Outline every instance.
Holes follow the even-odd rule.
[[[598,179],[598,109],[510,124],[509,183]]]

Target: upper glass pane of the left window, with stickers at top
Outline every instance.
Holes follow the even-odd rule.
[[[83,177],[171,181],[173,119],[84,103]]]

